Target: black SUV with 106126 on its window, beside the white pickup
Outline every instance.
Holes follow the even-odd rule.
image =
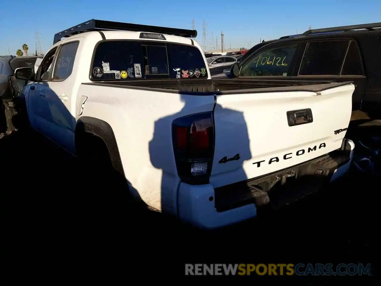
[[[228,76],[263,79],[264,84],[281,80],[283,85],[283,80],[290,85],[296,80],[353,81],[352,110],[380,119],[381,23],[309,30],[258,44]]]

